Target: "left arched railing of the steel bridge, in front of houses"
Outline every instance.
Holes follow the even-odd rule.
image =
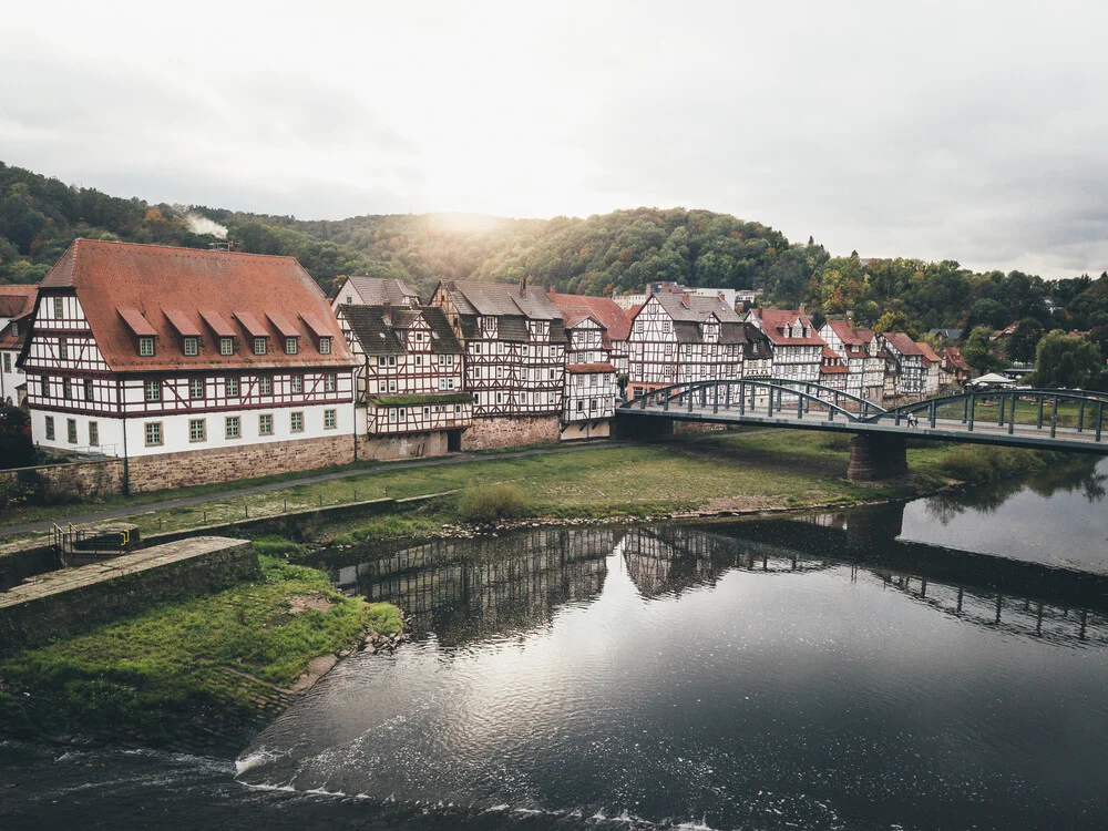
[[[866,421],[885,409],[872,401],[866,401],[844,390],[825,387],[812,381],[790,379],[735,379],[707,380],[676,383],[649,390],[628,400],[620,409],[659,408],[669,412],[684,408],[693,412],[695,408],[711,408],[714,413],[737,412],[739,416],[776,417],[788,410],[796,411],[802,419],[814,409],[825,411],[827,420],[833,421],[835,416],[842,416],[848,421]]]

